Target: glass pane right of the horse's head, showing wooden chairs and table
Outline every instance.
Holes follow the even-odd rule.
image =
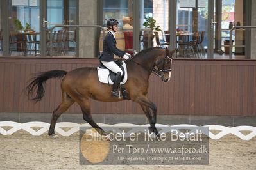
[[[214,1],[177,1],[177,58],[213,58]]]

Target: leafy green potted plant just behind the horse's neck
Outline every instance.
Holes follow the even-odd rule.
[[[155,23],[157,22],[152,17],[146,17],[146,22],[143,23],[143,26],[146,28],[149,28],[149,33],[144,33],[143,35],[143,42],[145,47],[148,47],[148,42],[151,42],[151,47],[153,46],[153,38],[155,35],[153,35],[153,31],[161,31],[160,26],[156,26]]]

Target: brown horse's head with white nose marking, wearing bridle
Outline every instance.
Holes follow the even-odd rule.
[[[176,49],[175,49],[176,50]],[[171,65],[173,63],[173,53],[175,50],[169,51],[166,47],[166,52],[155,61],[158,72],[161,73],[162,81],[168,82],[171,79]]]

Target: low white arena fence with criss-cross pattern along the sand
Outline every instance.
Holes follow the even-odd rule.
[[[3,135],[12,135],[14,132],[17,132],[18,130],[25,130],[26,132],[30,133],[31,135],[42,135],[45,132],[48,132],[49,130],[49,123],[45,122],[39,122],[39,121],[33,121],[28,123],[17,123],[13,121],[0,121],[0,134]],[[98,123],[100,127],[149,127],[149,124],[146,125],[134,125],[130,123],[118,123],[114,125],[108,125],[105,123]],[[79,131],[79,127],[88,127],[90,126],[88,123],[79,124],[79,123],[71,123],[71,122],[60,122],[56,123],[55,132],[58,132],[58,134],[62,136],[69,136],[74,134],[75,132]],[[9,130],[4,130],[2,127],[12,127]],[[39,127],[40,130],[33,130],[31,127]],[[70,128],[65,132],[62,128],[67,127]],[[162,125],[162,124],[156,124],[156,127],[169,127],[168,125]],[[180,125],[173,125],[171,127],[186,127],[186,129],[190,129],[190,127],[198,127],[196,125],[187,125],[187,124],[180,124]],[[256,127],[252,126],[237,126],[237,127],[225,127],[221,125],[205,125],[201,127],[209,127],[209,137],[211,139],[221,139],[221,137],[233,134],[240,139],[243,140],[250,140],[256,135]],[[211,130],[218,130],[218,134],[213,134],[210,132]],[[240,131],[250,131],[247,135],[244,135]]]

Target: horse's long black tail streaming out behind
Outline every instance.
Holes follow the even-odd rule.
[[[36,102],[42,100],[42,97],[44,97],[44,84],[46,81],[51,78],[64,77],[66,74],[67,72],[64,70],[51,70],[38,73],[38,75],[33,77],[33,81],[26,87],[28,98],[30,98],[30,100],[35,100]],[[33,91],[35,88],[37,88],[37,95],[33,98]]]

